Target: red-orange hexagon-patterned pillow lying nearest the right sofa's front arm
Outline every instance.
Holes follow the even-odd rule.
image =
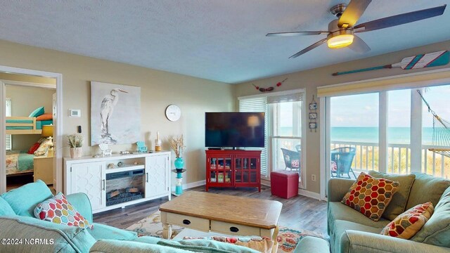
[[[433,211],[432,202],[416,205],[387,224],[381,234],[402,239],[412,238],[430,219]]]

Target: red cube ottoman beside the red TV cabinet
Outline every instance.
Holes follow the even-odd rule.
[[[290,198],[298,195],[298,173],[294,171],[272,171],[270,173],[272,195]]]

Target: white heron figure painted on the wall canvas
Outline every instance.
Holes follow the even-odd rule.
[[[115,105],[117,105],[117,102],[119,101],[119,93],[128,93],[128,91],[124,91],[122,89],[112,89],[110,91],[110,94],[106,95],[103,100],[101,101],[101,110],[100,110],[100,117],[101,117],[101,137],[103,139],[103,143],[111,143],[116,144],[117,141],[111,136],[109,132],[109,126],[108,122],[113,115],[113,110]]]

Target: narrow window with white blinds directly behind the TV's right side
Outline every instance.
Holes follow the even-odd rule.
[[[266,97],[240,98],[239,112],[265,112],[264,149],[261,152],[261,176],[267,177],[267,103]]]

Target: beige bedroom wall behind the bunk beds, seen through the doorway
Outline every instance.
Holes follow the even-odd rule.
[[[11,98],[12,116],[28,117],[34,109],[44,106],[45,112],[52,112],[54,89],[42,89],[28,86],[6,86],[6,97]],[[20,134],[13,135],[13,150],[28,150],[36,143],[40,135]]]

